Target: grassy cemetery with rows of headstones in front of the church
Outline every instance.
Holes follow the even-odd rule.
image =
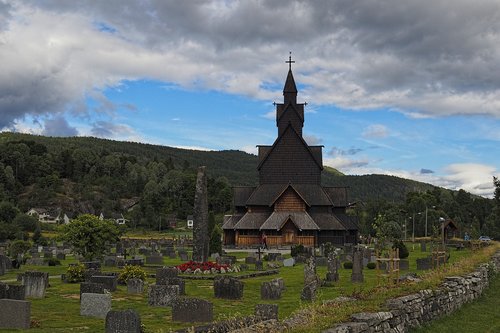
[[[269,331],[287,327],[292,331],[321,332],[353,318],[359,322],[367,313],[385,318],[379,312],[389,299],[397,300],[391,304],[401,304],[409,300],[398,296],[435,289],[442,281],[457,285],[462,279],[458,276],[477,269],[479,263],[490,260],[500,248],[496,242],[478,249],[448,247],[446,262],[436,265],[432,259],[433,247],[434,252],[440,248],[430,242],[426,248],[419,243],[407,243],[408,267],[400,269],[398,281],[381,278],[390,273],[389,265],[376,265],[383,261],[377,260],[380,258],[375,256],[375,250],[366,245],[340,247],[329,253],[325,253],[326,247],[315,251],[306,248],[302,253],[294,253],[295,258],[291,257],[290,249],[264,252],[227,249],[220,256],[213,256],[215,260],[199,264],[192,271],[186,267],[193,262],[184,261],[179,255],[172,258],[158,254],[161,263],[150,264],[145,255],[133,254],[133,262],[137,264],[134,267],[145,274],[143,278],[130,277],[123,281],[120,273],[128,266],[120,263],[123,258],[117,249],[139,253],[142,248],[143,252],[152,253],[155,248],[161,253],[165,247],[172,247],[168,239],[128,239],[119,245],[113,244],[107,251],[106,258],[115,257],[116,266],[104,265],[104,259],[83,261],[81,267],[88,276],[83,274],[80,283],[71,283],[68,269],[77,267],[82,258],[75,257],[71,249],[62,244],[54,245],[47,250],[66,252],[60,266],[9,267],[0,276],[0,298],[9,304],[0,310],[2,328],[55,332],[87,327],[101,332],[104,327],[127,323],[129,327],[142,325],[144,332],[176,331],[193,326],[213,328],[214,325],[226,327],[219,327],[221,331],[268,325]],[[181,250],[181,254],[192,258],[192,245],[173,247],[176,252]],[[7,261],[7,256],[2,258]],[[248,258],[256,260],[251,263]],[[429,265],[417,267],[423,259],[428,260]],[[338,311],[339,307],[342,311]],[[24,317],[12,317],[12,309],[19,309]],[[385,316],[392,318],[387,313]],[[107,318],[117,322],[108,322]]]

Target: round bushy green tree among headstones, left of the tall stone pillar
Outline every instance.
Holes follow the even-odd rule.
[[[114,243],[123,233],[114,221],[99,220],[95,215],[84,214],[63,226],[62,240],[70,243],[76,253],[86,260],[101,258],[106,243]]]

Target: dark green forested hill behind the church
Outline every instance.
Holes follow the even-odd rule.
[[[149,209],[151,216],[159,211],[184,216],[191,210],[190,184],[200,165],[207,166],[211,205],[219,212],[228,208],[226,200],[231,201],[230,186],[258,181],[257,156],[236,150],[197,151],[4,132],[0,133],[0,199],[16,201],[22,209],[59,206],[95,213],[118,212],[124,202],[135,200],[143,214]],[[433,188],[392,176],[346,176],[328,167],[323,184],[350,187],[351,201],[402,202],[408,192]]]

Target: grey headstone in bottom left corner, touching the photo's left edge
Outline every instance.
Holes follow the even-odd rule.
[[[29,329],[31,303],[14,299],[0,299],[0,329]]]

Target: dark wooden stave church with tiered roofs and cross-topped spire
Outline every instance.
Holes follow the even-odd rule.
[[[357,220],[346,214],[347,188],[321,186],[323,146],[302,137],[304,104],[297,103],[292,62],[284,101],[276,104],[278,138],[257,146],[259,185],[233,189],[235,213],[222,226],[225,245],[257,245],[263,234],[268,246],[357,243]]]

